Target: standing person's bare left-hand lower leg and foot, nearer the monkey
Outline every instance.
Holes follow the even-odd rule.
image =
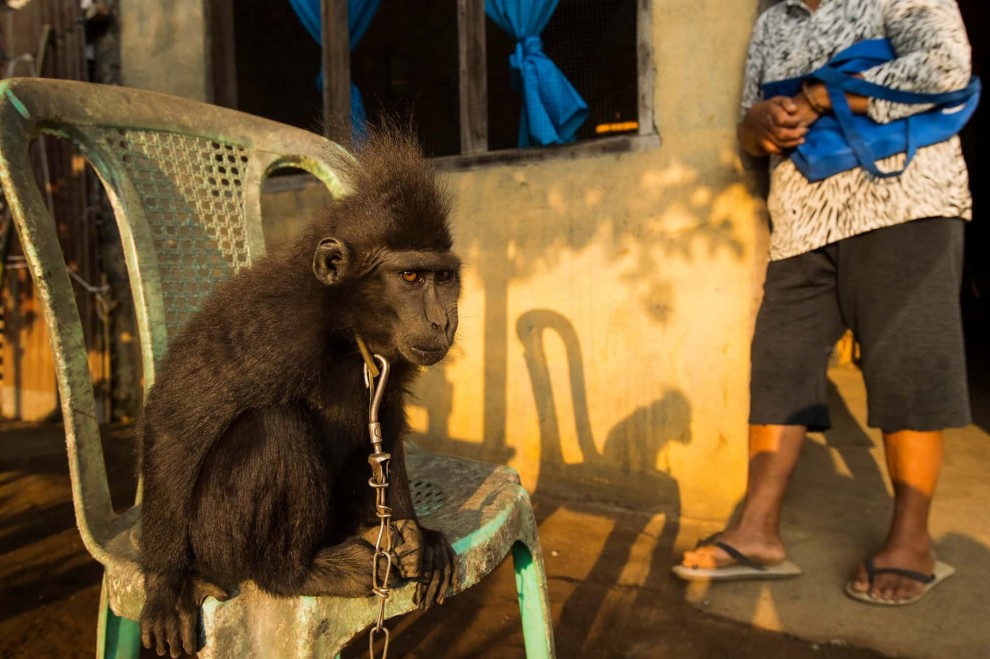
[[[784,560],[780,539],[780,507],[801,454],[804,426],[750,426],[749,475],[742,514],[719,535],[754,561],[772,565]],[[715,568],[733,559],[714,546],[686,552],[682,564]]]

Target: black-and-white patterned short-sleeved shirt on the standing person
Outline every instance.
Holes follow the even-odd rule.
[[[897,59],[863,77],[888,87],[943,92],[965,87],[969,41],[955,0],[782,0],[759,17],[746,62],[740,117],[764,100],[760,85],[810,73],[864,39],[888,38]],[[926,109],[873,99],[880,123]],[[878,163],[901,169],[903,155]],[[810,183],[789,158],[772,156],[768,207],[770,259],[785,259],[866,231],[926,217],[972,218],[969,177],[959,138],[919,149],[897,177],[876,179],[861,168]]]

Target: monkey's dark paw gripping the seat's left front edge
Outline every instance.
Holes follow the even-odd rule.
[[[221,602],[229,597],[223,588],[198,577],[176,584],[164,584],[158,575],[145,579],[147,600],[141,611],[141,643],[149,650],[154,647],[158,656],[164,656],[166,646],[173,658],[183,652],[196,652],[196,622],[199,607],[207,597]]]

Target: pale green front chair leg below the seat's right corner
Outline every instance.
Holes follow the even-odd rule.
[[[516,592],[519,593],[526,659],[551,659],[556,655],[543,557],[537,555],[534,558],[524,542],[516,542],[512,545],[512,562],[516,568]]]

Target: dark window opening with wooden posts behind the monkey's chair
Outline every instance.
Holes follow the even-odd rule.
[[[356,94],[371,120],[383,114],[411,117],[427,155],[452,167],[633,150],[658,142],[650,0],[559,1],[539,32],[536,58],[545,55],[560,70],[586,106],[575,114],[586,116],[566,139],[549,143],[520,139],[526,104],[510,57],[528,53],[533,42],[502,27],[511,22],[504,16],[493,20],[486,15],[485,0],[213,3],[216,98],[245,112],[308,129],[326,120],[342,125],[350,115],[342,99]],[[539,3],[533,0],[530,9]],[[308,27],[293,5],[306,5]],[[345,16],[354,7],[370,11],[370,21],[359,16],[348,26]],[[321,24],[321,15],[331,19]],[[365,21],[365,27],[355,31],[355,20]],[[325,50],[314,38],[323,34],[329,36]],[[321,63],[327,72],[322,88],[317,83]],[[544,148],[560,141],[567,146]]]

